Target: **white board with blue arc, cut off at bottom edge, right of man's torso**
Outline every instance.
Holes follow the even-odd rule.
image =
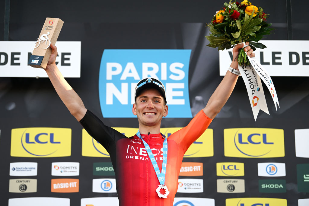
[[[214,206],[214,199],[195,197],[175,197],[173,206]]]

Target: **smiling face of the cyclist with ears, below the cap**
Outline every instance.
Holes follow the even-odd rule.
[[[158,90],[146,89],[136,98],[132,112],[137,115],[140,126],[160,126],[168,109]]]

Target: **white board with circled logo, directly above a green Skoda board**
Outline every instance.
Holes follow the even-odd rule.
[[[286,164],[278,162],[257,163],[258,176],[283,177],[286,176]]]

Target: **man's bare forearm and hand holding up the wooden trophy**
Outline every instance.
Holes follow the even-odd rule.
[[[49,57],[45,71],[62,102],[76,120],[80,121],[85,116],[87,109],[82,99],[64,79],[56,65],[57,47],[50,44],[50,48],[52,49],[52,54]]]

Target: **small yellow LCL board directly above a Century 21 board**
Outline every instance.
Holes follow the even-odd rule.
[[[241,162],[217,162],[217,176],[244,176],[244,172]]]

